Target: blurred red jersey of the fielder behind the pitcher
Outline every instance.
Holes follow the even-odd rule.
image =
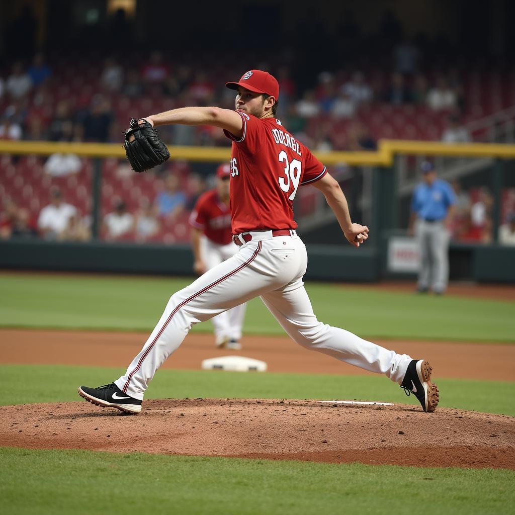
[[[220,200],[216,189],[199,197],[190,215],[190,224],[202,230],[212,242],[227,245],[232,241],[231,211]]]

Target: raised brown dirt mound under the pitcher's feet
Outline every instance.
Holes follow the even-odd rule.
[[[515,418],[313,400],[148,400],[137,416],[85,402],[24,404],[0,407],[0,445],[515,469]]]

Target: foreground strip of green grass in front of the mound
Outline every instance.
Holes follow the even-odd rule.
[[[495,513],[515,473],[0,448],[6,513]],[[16,488],[23,485],[23,488]]]

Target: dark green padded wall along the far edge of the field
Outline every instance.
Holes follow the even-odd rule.
[[[391,273],[385,246],[307,244],[306,278],[373,282],[383,278],[414,279],[415,274]],[[451,280],[515,282],[515,248],[496,245],[451,245]],[[188,245],[129,243],[0,242],[0,268],[191,276],[193,255]]]

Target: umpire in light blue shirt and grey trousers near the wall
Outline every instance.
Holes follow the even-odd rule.
[[[447,181],[437,178],[433,163],[423,161],[421,170],[423,181],[411,198],[408,227],[408,232],[415,233],[419,243],[417,290],[426,292],[431,288],[441,295],[449,282],[449,224],[456,196]]]

